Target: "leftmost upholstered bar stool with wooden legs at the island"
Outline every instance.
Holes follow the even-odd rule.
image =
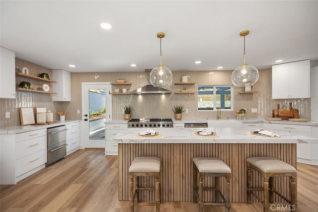
[[[139,187],[139,177],[153,176],[156,179],[155,187]],[[134,188],[135,184],[135,188]],[[139,202],[139,190],[155,190],[156,201]],[[129,193],[130,193],[130,211],[134,212],[134,206],[156,206],[159,212],[160,207],[160,158],[158,157],[136,157],[129,167]]]

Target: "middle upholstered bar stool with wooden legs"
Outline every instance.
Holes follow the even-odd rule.
[[[199,175],[199,188],[197,187],[197,175]],[[215,187],[204,187],[204,177],[215,177]],[[225,197],[220,189],[220,177],[225,177]],[[221,159],[213,157],[193,158],[193,200],[197,203],[199,197],[199,212],[203,212],[203,206],[225,206],[225,211],[230,212],[230,179],[231,169]],[[215,191],[216,202],[203,202],[203,190]],[[220,197],[223,202],[220,202]]]

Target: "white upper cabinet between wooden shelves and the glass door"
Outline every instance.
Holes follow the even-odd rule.
[[[53,101],[71,101],[71,73],[65,70],[53,70],[53,79],[57,83],[53,87]]]

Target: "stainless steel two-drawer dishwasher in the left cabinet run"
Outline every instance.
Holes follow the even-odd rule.
[[[66,126],[56,126],[47,129],[47,163],[45,166],[64,158],[66,155]]]

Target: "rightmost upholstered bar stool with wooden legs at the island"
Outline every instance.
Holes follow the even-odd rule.
[[[274,202],[274,195],[277,194],[286,203],[275,203],[275,205],[289,205],[293,211],[297,208],[297,193],[296,193],[296,179],[297,179],[297,170],[276,158],[272,157],[250,157],[246,159],[247,164],[247,202],[252,202],[252,196],[254,195],[259,201],[262,202],[264,212],[271,211],[270,206]],[[257,172],[261,173],[264,178],[264,187],[263,188],[252,188],[251,185],[251,170],[254,169]],[[274,177],[289,177],[289,192],[290,199],[287,199],[282,194],[277,192],[274,188]],[[260,183],[260,182],[259,182]],[[264,199],[261,199],[254,191],[264,191]]]

